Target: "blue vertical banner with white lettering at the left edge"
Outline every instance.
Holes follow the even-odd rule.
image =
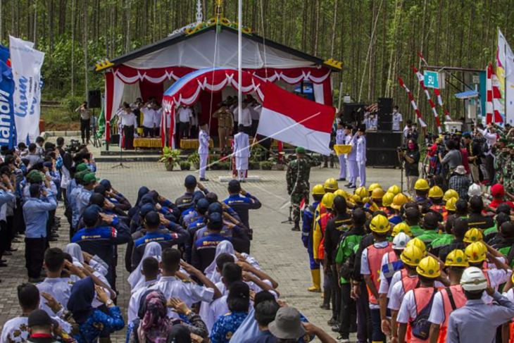
[[[0,60],[0,146],[8,146],[9,149],[16,144],[13,93],[13,72]]]

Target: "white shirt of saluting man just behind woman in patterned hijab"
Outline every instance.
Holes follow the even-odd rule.
[[[194,303],[206,301],[211,303],[214,297],[214,289],[196,285],[193,282],[183,282],[175,276],[163,276],[161,280],[149,287],[163,292],[165,299],[179,298],[191,308]],[[178,318],[176,312],[168,311],[168,317]]]

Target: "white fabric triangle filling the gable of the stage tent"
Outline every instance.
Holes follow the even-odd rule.
[[[144,56],[124,63],[137,69],[166,68],[182,66],[195,69],[237,68],[237,35],[222,30],[215,36],[215,31],[204,32],[177,44],[153,51]],[[243,37],[243,68],[301,68],[314,66],[315,63],[287,52],[264,46]],[[265,53],[264,53],[265,51]]]

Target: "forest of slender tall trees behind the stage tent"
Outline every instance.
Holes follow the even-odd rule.
[[[211,18],[215,1],[201,1],[204,20]],[[430,106],[410,70],[420,66],[418,51],[431,65],[482,69],[494,62],[498,28],[514,44],[510,0],[244,0],[243,6],[244,25],[258,35],[342,61],[344,70],[332,77],[336,106],[342,82],[354,101],[390,96],[413,118],[401,76],[429,125]],[[237,0],[223,1],[222,13],[236,21]],[[196,0],[0,0],[0,42],[8,45],[13,35],[46,53],[42,98],[59,106],[43,116],[69,121],[88,89],[104,89],[103,75],[91,71],[96,61],[195,20]],[[457,91],[441,92],[453,118],[464,112]]]

